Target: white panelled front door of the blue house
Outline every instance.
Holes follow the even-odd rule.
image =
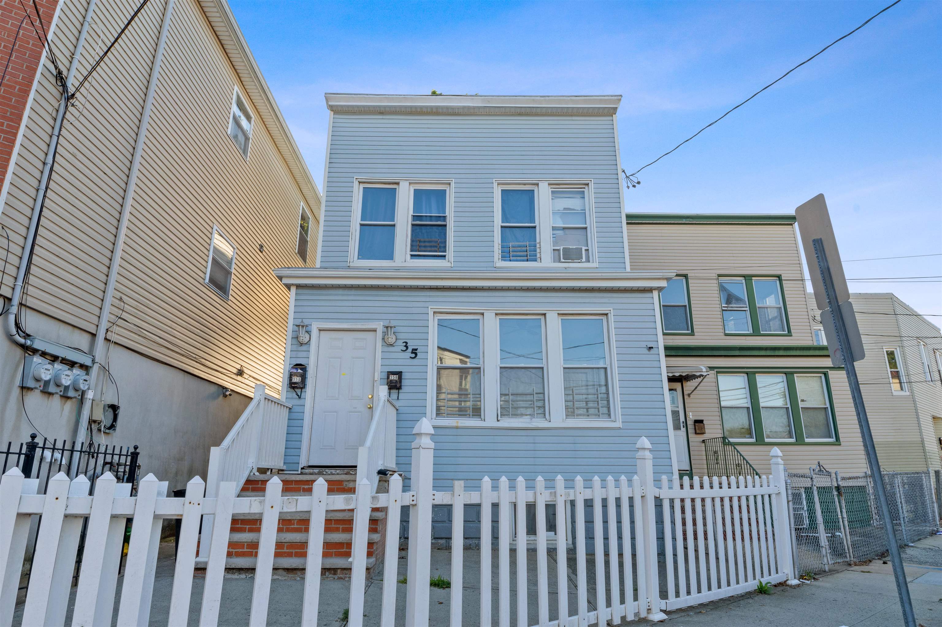
[[[376,331],[321,330],[309,466],[355,466],[373,411]]]

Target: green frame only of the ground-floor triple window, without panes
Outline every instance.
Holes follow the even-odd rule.
[[[831,378],[828,376],[828,371],[826,370],[794,370],[794,371],[774,371],[774,370],[755,370],[755,371],[745,371],[745,370],[735,370],[735,369],[724,369],[716,370],[716,377],[722,377],[723,375],[738,375],[745,376],[747,378],[748,390],[749,390],[749,413],[752,418],[753,424],[753,437],[752,439],[740,439],[740,438],[730,438],[732,442],[735,442],[737,446],[750,446],[755,444],[774,444],[776,446],[791,446],[795,444],[802,445],[839,445],[840,444],[840,434],[837,431],[837,418],[835,413],[834,406],[834,395],[831,392]],[[791,428],[794,434],[794,439],[792,440],[767,440],[765,436],[765,426],[762,421],[762,394],[759,394],[759,381],[756,379],[756,375],[759,377],[768,377],[769,375],[784,375],[786,378],[786,385],[788,388],[788,414],[791,419]],[[808,402],[803,401],[802,398],[798,395],[798,387],[795,381],[795,376],[820,376],[823,380],[825,400],[827,401],[826,410],[828,412],[828,418],[830,419],[831,431],[834,434],[834,439],[814,439],[806,438],[804,434],[804,421],[802,418],[802,409],[820,410],[820,406],[811,405]],[[717,407],[722,408],[722,400],[720,398],[720,385],[719,380],[717,381]],[[809,413],[810,415],[810,413]],[[723,411],[720,411],[720,421],[723,423]],[[723,425],[723,435],[726,434],[725,425]]]

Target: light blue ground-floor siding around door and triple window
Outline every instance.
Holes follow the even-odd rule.
[[[426,414],[430,307],[528,309],[593,309],[614,311],[615,346],[622,412],[621,428],[435,427],[435,480],[444,486],[453,479],[479,480],[487,474],[533,479],[562,473],[633,474],[635,444],[645,436],[654,446],[657,475],[671,474],[667,419],[658,360],[658,331],[650,292],[553,292],[520,290],[313,289],[299,287],[294,318],[308,324],[386,323],[396,325],[399,343],[418,348],[409,359],[400,346],[382,346],[381,380],[385,372],[401,370],[403,389],[398,398],[398,469],[409,474],[412,430]],[[312,340],[314,342],[314,340]],[[654,346],[648,350],[648,346]],[[299,346],[293,332],[290,362],[307,364],[310,345]],[[309,379],[311,374],[308,375]],[[288,394],[285,466],[300,461],[304,399]],[[450,484],[447,484],[450,485]]]

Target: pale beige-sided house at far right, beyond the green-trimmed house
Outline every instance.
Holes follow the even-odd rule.
[[[852,294],[851,301],[867,354],[857,362],[857,375],[880,465],[942,468],[936,435],[942,430],[942,332],[893,294]],[[814,298],[808,302],[812,319],[820,320]]]

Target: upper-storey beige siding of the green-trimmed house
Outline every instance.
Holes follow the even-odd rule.
[[[802,259],[792,224],[629,222],[632,270],[689,275],[692,335],[664,336],[665,344],[813,344]],[[725,335],[720,275],[781,275],[791,335]]]

